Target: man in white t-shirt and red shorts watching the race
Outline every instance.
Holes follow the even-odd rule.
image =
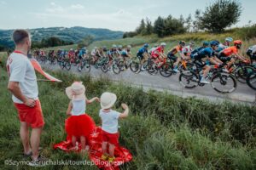
[[[9,55],[7,70],[9,72],[8,89],[20,118],[20,139],[24,156],[32,156],[32,166],[42,161],[38,148],[44,127],[44,117],[38,99],[38,83],[34,68],[27,58],[31,48],[31,37],[26,30],[13,33],[15,51]],[[29,127],[32,127],[29,142]]]

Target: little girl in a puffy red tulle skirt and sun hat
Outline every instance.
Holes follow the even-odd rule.
[[[90,133],[96,127],[95,122],[90,116],[85,113],[86,105],[93,101],[100,101],[98,98],[86,99],[85,87],[82,82],[73,82],[71,87],[66,88],[66,94],[71,99],[67,115],[70,115],[65,123],[67,135],[72,137],[73,146],[76,146],[78,140],[81,142],[82,151],[85,150],[86,138],[88,139]]]

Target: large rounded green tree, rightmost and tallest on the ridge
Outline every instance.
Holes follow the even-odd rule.
[[[236,24],[241,15],[241,3],[236,0],[217,0],[208,6],[200,17],[201,29],[224,31]]]

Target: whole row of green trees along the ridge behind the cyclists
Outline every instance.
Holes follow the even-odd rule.
[[[237,0],[215,0],[204,11],[197,9],[194,17],[191,14],[184,19],[169,16],[159,16],[154,24],[146,18],[141,20],[135,31],[125,32],[123,38],[137,35],[156,34],[158,37],[172,36],[185,32],[211,31],[223,32],[225,28],[233,26],[241,16],[241,3]]]

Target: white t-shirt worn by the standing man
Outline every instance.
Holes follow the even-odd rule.
[[[38,99],[38,82],[34,67],[24,54],[12,53],[7,60],[9,82],[19,82],[20,90],[27,98]],[[15,103],[23,104],[14,95]]]

